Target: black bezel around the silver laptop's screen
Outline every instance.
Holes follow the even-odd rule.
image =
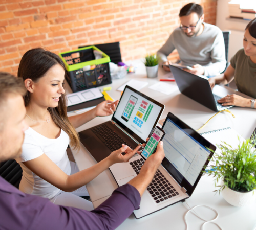
[[[212,145],[209,141],[207,141],[202,135],[200,135],[198,132],[196,132],[193,128],[191,128],[190,126],[188,126],[186,123],[184,123],[183,121],[181,121],[178,117],[176,117],[173,113],[169,112],[164,123],[162,126],[162,129],[164,130],[164,126],[167,122],[167,120],[170,119],[172,122],[174,122],[176,124],[176,122],[178,121],[179,123],[177,124],[177,126],[179,126],[182,129],[188,129],[191,131],[191,133],[188,133],[191,137],[193,137],[197,142],[199,142],[201,145],[212,149],[214,152],[216,151],[216,146]],[[187,131],[186,131],[187,132]],[[164,139],[162,140],[164,142]],[[207,158],[202,170],[209,164],[210,159],[212,158],[212,155],[214,154],[214,152],[210,152],[209,157]],[[164,157],[162,164],[161,164],[164,169],[170,174],[172,175],[172,177],[177,181],[177,183],[180,185],[180,187],[184,187],[186,189],[186,193],[188,196],[191,196],[192,193],[194,192],[200,178],[203,175],[203,172],[201,170],[201,172],[199,173],[194,185],[192,186],[187,180],[186,178],[172,165],[172,163],[169,162],[169,160]],[[168,167],[167,167],[168,166]],[[169,170],[172,169],[172,170]],[[182,178],[182,180],[180,181],[180,179],[177,178],[177,176],[173,173],[175,172],[177,175],[179,175],[180,178]]]

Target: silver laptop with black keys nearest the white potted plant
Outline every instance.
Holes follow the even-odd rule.
[[[170,112],[162,129],[166,132],[163,138],[165,158],[141,197],[140,209],[134,211],[137,219],[188,199],[214,154],[207,148],[216,150],[216,146]],[[111,166],[118,186],[137,176],[144,162],[138,155],[129,163]]]

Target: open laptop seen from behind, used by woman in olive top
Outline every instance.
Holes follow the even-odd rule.
[[[218,103],[218,100],[227,96],[227,94],[238,94],[236,90],[215,85],[211,91],[207,77],[191,74],[173,65],[169,65],[169,67],[180,92],[185,96],[215,112],[233,107],[233,105],[222,106]]]

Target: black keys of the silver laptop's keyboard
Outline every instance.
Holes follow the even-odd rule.
[[[134,160],[134,162],[130,162],[130,165],[133,167],[137,175],[140,173],[140,169],[144,162],[145,161],[142,158]],[[179,195],[176,189],[170,184],[159,169],[154,175],[150,185],[148,185],[147,192],[150,193],[156,203],[163,202]]]

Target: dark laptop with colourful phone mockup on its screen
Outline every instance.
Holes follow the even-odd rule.
[[[164,105],[127,86],[111,121],[79,132],[80,142],[97,162],[126,144],[132,149],[146,142]]]

